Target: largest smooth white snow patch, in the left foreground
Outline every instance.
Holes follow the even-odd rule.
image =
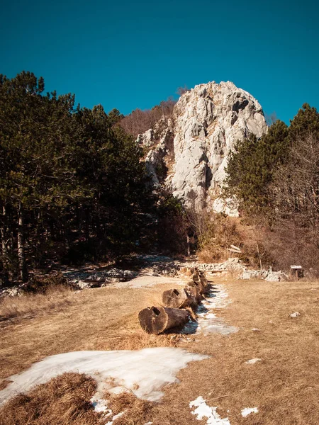
[[[57,354],[8,378],[13,382],[0,391],[0,405],[18,392],[26,392],[64,372],[91,375],[97,382],[95,399],[101,399],[105,390],[121,392],[124,389],[132,391],[141,399],[158,401],[163,395],[164,385],[179,382],[176,375],[180,369],[185,368],[190,361],[204,358],[208,356],[170,347]],[[103,409],[101,404],[99,407]]]

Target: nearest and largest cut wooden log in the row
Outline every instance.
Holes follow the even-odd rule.
[[[169,307],[147,307],[138,314],[140,326],[147,334],[162,334],[172,327],[180,327],[189,320],[187,310]]]

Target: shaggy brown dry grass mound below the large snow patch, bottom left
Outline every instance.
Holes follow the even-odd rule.
[[[84,374],[64,373],[7,402],[0,409],[0,424],[99,424],[101,414],[89,402],[95,388],[96,382]]]

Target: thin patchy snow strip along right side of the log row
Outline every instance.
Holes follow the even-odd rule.
[[[196,334],[201,331],[204,335],[211,333],[228,335],[237,332],[237,327],[226,324],[221,317],[216,316],[217,312],[213,312],[227,307],[228,304],[230,304],[230,300],[225,286],[213,285],[206,295],[206,299],[197,307],[197,322],[190,321],[182,333]]]

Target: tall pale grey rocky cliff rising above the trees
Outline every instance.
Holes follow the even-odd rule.
[[[147,169],[155,184],[164,184],[186,204],[206,201],[222,210],[216,196],[228,153],[237,140],[266,131],[262,107],[253,96],[230,81],[213,81],[186,91],[172,118],[159,120],[138,142],[148,151]]]

